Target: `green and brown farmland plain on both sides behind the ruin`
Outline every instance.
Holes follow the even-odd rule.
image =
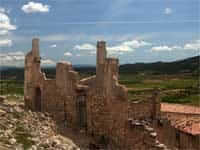
[[[91,73],[81,72],[81,77]],[[120,83],[128,88],[129,100],[142,100],[160,91],[162,102],[199,105],[198,76],[191,74],[163,75],[152,73],[121,73]],[[23,95],[23,81],[1,80],[1,95]]]

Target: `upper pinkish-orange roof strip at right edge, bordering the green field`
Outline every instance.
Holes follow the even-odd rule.
[[[190,106],[190,105],[182,105],[182,104],[162,103],[161,111],[163,111],[163,112],[178,112],[178,113],[185,113],[185,114],[200,114],[200,107]]]

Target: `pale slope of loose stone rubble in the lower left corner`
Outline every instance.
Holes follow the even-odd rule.
[[[50,115],[26,111],[23,102],[0,98],[0,150],[78,150],[59,135]]]

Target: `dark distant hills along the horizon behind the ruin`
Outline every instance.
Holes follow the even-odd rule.
[[[74,65],[74,69],[80,73],[95,74],[94,65]],[[195,56],[173,62],[155,62],[155,63],[136,63],[124,64],[120,66],[120,73],[138,73],[152,72],[158,74],[176,74],[176,73],[196,73],[200,71],[200,56]],[[42,68],[47,76],[55,76],[55,67]],[[0,67],[1,79],[13,78],[23,80],[23,67]]]

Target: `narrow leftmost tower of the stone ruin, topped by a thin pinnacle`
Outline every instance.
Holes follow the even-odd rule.
[[[39,39],[33,39],[32,50],[25,58],[24,100],[27,108],[36,110],[36,88],[42,91],[45,79],[40,69]],[[42,93],[42,92],[41,92]]]

